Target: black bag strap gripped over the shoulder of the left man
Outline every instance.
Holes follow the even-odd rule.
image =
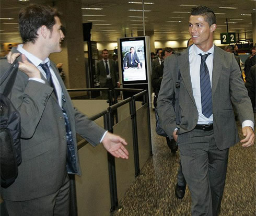
[[[9,66],[9,68],[7,69],[7,71],[4,73],[4,75],[1,77],[1,84],[3,84],[3,82],[7,79],[7,77],[9,77],[6,85],[5,85],[5,89],[3,91],[3,94],[8,96],[11,89],[13,88],[17,73],[18,73],[18,67],[19,67],[19,63],[17,61],[17,59],[15,59],[14,63],[11,64]]]

